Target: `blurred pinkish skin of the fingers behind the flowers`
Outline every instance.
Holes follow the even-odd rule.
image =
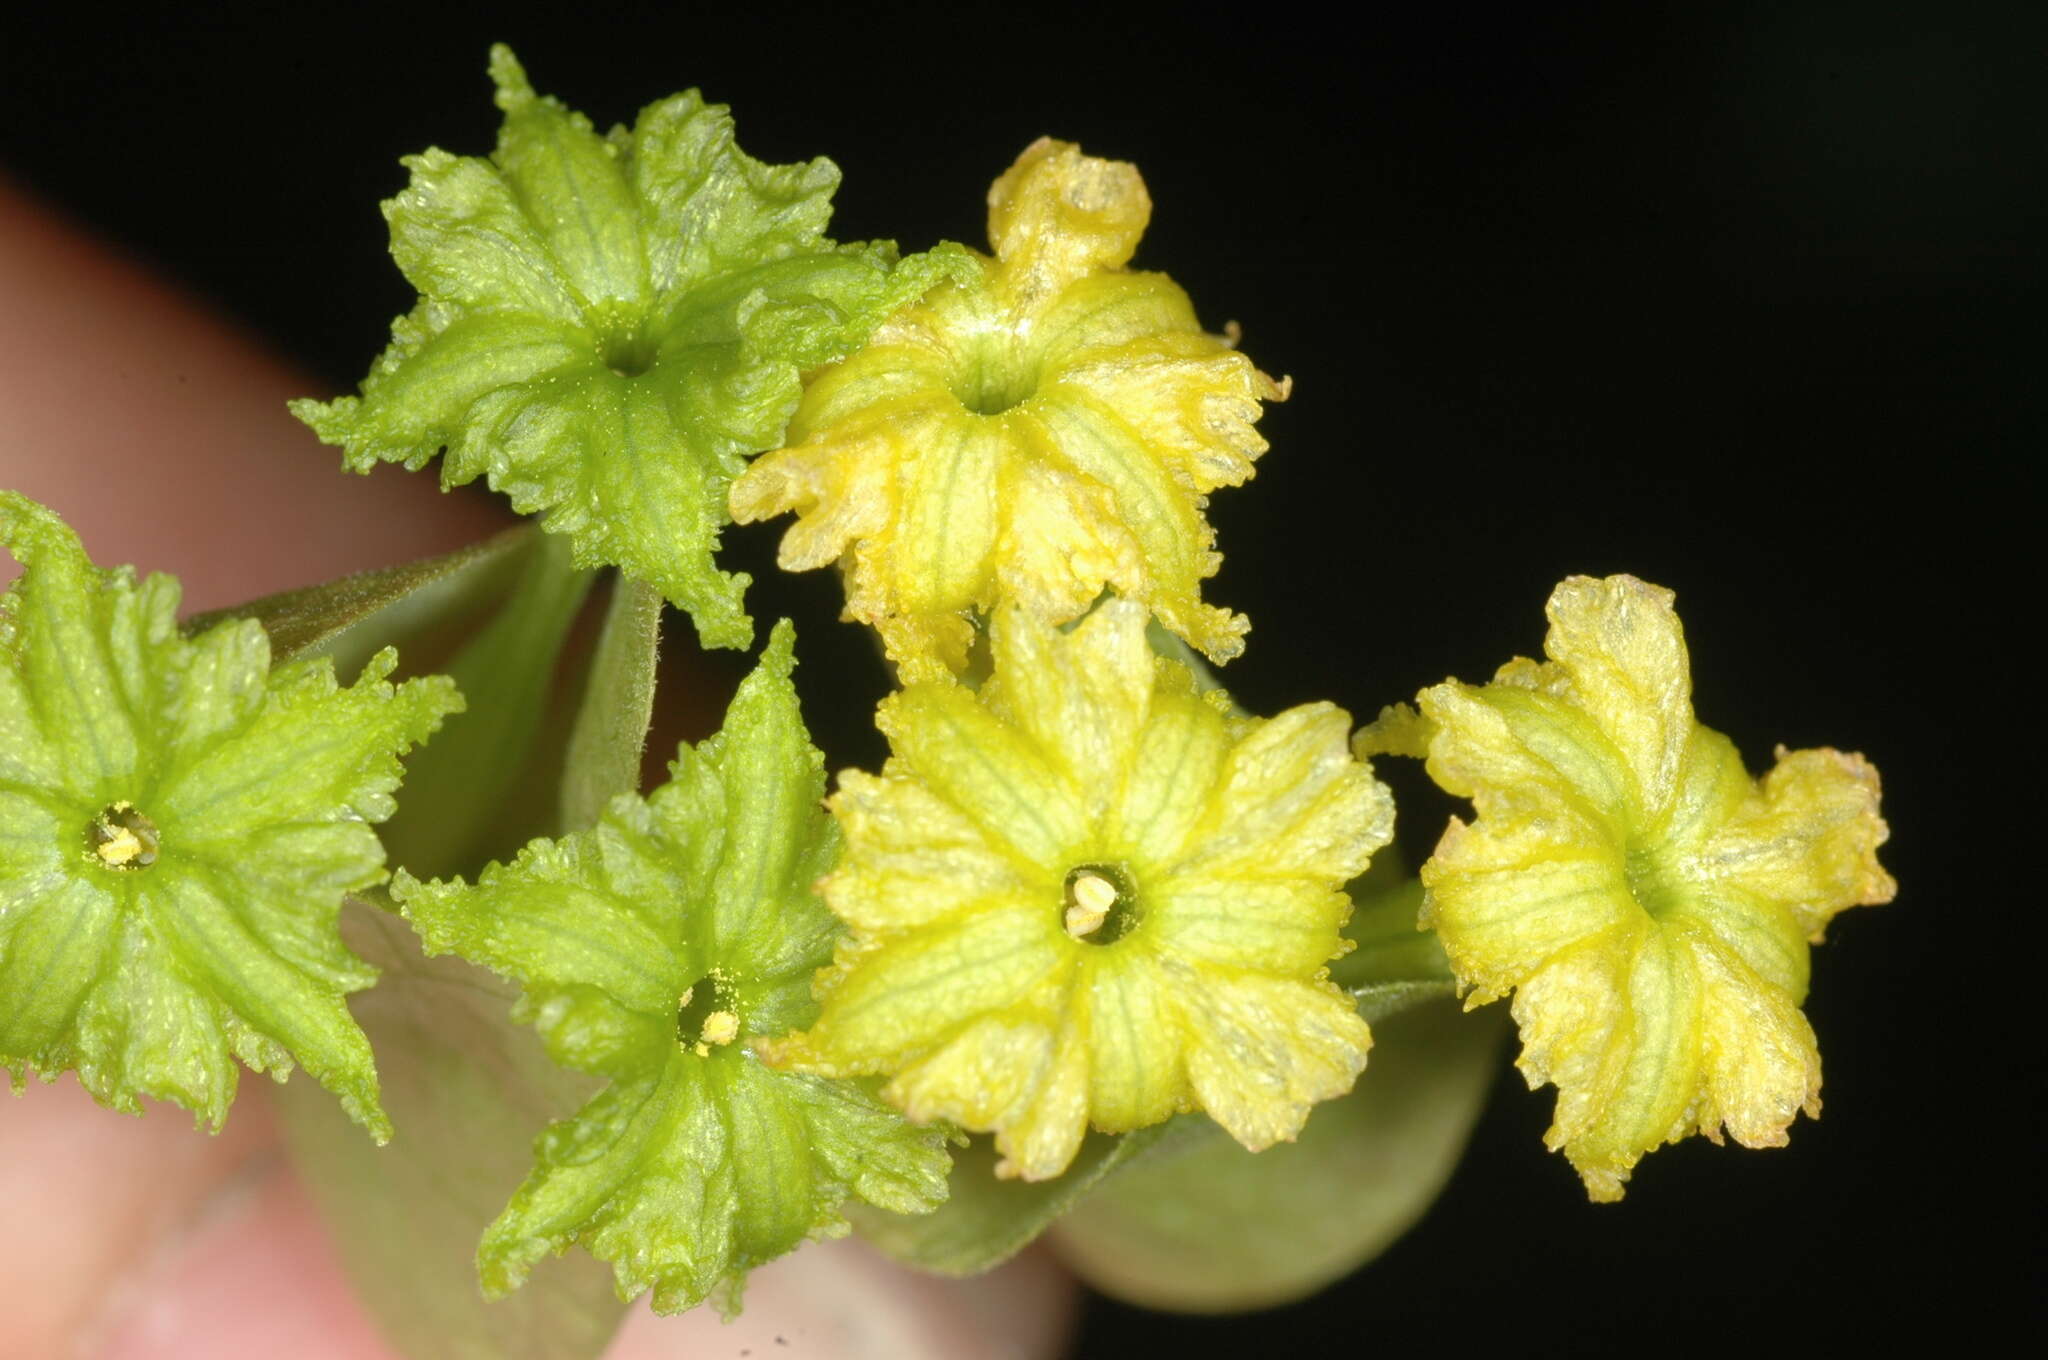
[[[500,524],[481,498],[436,496],[430,473],[342,475],[285,412],[307,393],[0,180],[0,487],[55,508],[96,559],[172,571],[201,610]],[[0,555],[0,580],[12,571]],[[102,1110],[70,1077],[0,1094],[0,1354],[391,1356],[285,1161],[264,1086],[244,1079],[219,1137],[168,1106]],[[758,1270],[731,1325],[633,1309],[606,1356],[1028,1360],[1055,1354],[1071,1317],[1073,1284],[1036,1253],[938,1280],[838,1241]]]

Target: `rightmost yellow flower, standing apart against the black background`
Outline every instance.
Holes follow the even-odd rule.
[[[1780,1147],[1821,1112],[1808,942],[1896,885],[1862,756],[1780,748],[1755,780],[1694,721],[1669,590],[1579,576],[1548,614],[1548,662],[1425,690],[1358,746],[1427,754],[1479,809],[1423,864],[1423,924],[1468,1006],[1516,993],[1520,1067],[1559,1090],[1546,1141],[1616,1200],[1663,1143]]]

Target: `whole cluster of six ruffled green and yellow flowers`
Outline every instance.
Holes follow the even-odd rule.
[[[1251,477],[1288,383],[1128,268],[1135,166],[1038,139],[989,190],[991,254],[899,260],[825,238],[829,162],[743,156],[696,92],[600,135],[502,47],[492,78],[496,152],[408,158],[385,205],[416,309],[358,395],[293,406],[352,469],[444,455],[446,485],[485,477],[561,535],[453,664],[487,721],[416,770],[442,836],[430,791],[467,797],[473,750],[543,727],[588,567],[621,573],[561,834],[512,854],[508,830],[481,866],[391,830],[426,950],[512,979],[512,1018],[596,1079],[485,1229],[485,1292],[580,1245],[621,1297],[735,1307],[858,1204],[934,1213],[965,1133],[1014,1182],[1184,1114],[1292,1141],[1366,1069],[1368,991],[1374,1022],[1448,995],[1446,959],[1470,1006],[1513,995],[1522,1071],[1559,1092],[1548,1141],[1593,1198],[1667,1141],[1776,1145],[1819,1112],[1808,946],[1894,893],[1876,770],[1780,750],[1753,778],[1694,717],[1673,596],[1626,576],[1556,588],[1546,662],[1434,686],[1356,741],[1329,703],[1239,711],[1194,655],[1229,662],[1249,629],[1202,598],[1206,498]],[[784,621],[723,729],[641,797],[662,600],[745,645],[745,578],[713,551],[784,512],[780,563],[838,563],[895,664],[887,764],[825,799]],[[385,1139],[348,1010],[375,971],[336,918],[385,879],[399,756],[463,698],[393,686],[389,647],[352,686],[311,651],[383,604],[403,627],[432,600],[399,596],[467,567],[295,596],[285,614],[336,627],[279,631],[307,653],[272,657],[254,619],[180,631],[174,582],[96,569],[12,494],[0,549],[27,569],[0,596],[0,1067],[219,1127],[238,1059],[297,1063]],[[1346,887],[1393,838],[1378,754],[1425,758],[1477,813],[1419,885],[1374,885],[1362,930]],[[1366,948],[1333,975],[1348,924]]]

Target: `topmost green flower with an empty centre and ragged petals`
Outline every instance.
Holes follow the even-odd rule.
[[[707,645],[743,647],[745,576],[711,563],[725,494],[774,449],[799,373],[858,346],[946,256],[825,240],[838,168],[764,166],[696,90],[600,135],[492,49],[489,160],[430,150],[385,203],[420,305],[360,397],[293,401],[354,471],[479,475],[578,565],[659,586]]]

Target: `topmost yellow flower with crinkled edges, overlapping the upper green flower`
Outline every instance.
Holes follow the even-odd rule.
[[[1208,492],[1266,451],[1284,385],[1204,334],[1165,274],[1130,272],[1151,217],[1135,166],[1040,137],[989,190],[995,258],[936,289],[805,387],[788,447],[731,490],[735,520],[786,510],[778,561],[840,559],[846,614],[905,680],[958,672],[969,610],[1077,619],[1112,586],[1210,657],[1241,614],[1217,571]]]

